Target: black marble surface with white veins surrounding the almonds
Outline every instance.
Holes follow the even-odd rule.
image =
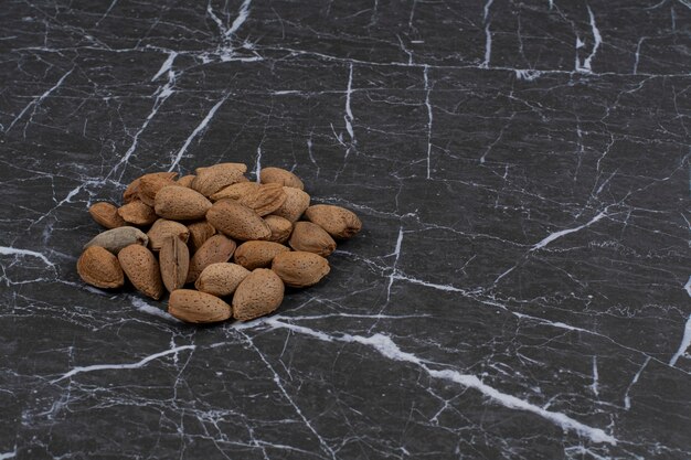
[[[0,459],[691,457],[685,0],[0,10]],[[75,261],[143,172],[359,213],[246,324]]]

